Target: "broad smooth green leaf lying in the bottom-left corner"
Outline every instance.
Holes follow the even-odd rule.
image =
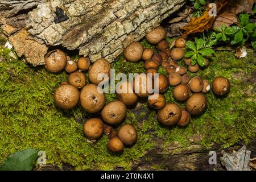
[[[31,171],[39,150],[28,148],[11,154],[0,166],[1,171]]]

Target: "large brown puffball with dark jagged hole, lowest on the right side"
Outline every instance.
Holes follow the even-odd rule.
[[[158,121],[163,125],[175,125],[181,118],[181,108],[177,104],[169,103],[158,111]]]

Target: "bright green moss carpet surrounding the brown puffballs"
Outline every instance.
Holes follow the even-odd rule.
[[[144,47],[149,45],[142,40]],[[229,147],[240,142],[249,143],[255,137],[255,65],[252,50],[241,60],[234,52],[218,51],[208,68],[196,74],[212,82],[216,76],[225,76],[231,82],[228,96],[216,97],[207,93],[208,108],[199,117],[193,117],[187,127],[163,127],[156,120],[154,110],[141,100],[141,110],[127,111],[125,123],[133,123],[138,129],[138,142],[125,148],[123,154],[111,154],[102,136],[97,143],[88,143],[82,126],[92,117],[77,106],[71,111],[58,109],[53,103],[53,92],[61,81],[67,80],[65,72],[53,74],[43,67],[34,68],[23,58],[13,59],[10,50],[0,48],[0,163],[11,153],[26,148],[46,151],[47,163],[70,164],[75,169],[130,169],[146,151],[154,148],[155,138],[163,144],[176,142],[180,150],[189,146],[189,139],[200,136],[198,143],[210,147],[221,143]],[[181,61],[181,65],[182,65]],[[143,63],[124,62],[120,56],[113,64],[115,72],[144,72]],[[165,71],[159,68],[160,73]],[[167,102],[176,102],[170,87],[164,94]],[[106,94],[107,101],[115,100],[114,94]],[[178,103],[184,108],[183,103]],[[159,140],[158,140],[159,141]]]

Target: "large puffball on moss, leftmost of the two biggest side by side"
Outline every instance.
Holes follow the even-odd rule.
[[[72,109],[79,102],[79,90],[73,85],[63,83],[55,90],[54,101],[60,109]]]

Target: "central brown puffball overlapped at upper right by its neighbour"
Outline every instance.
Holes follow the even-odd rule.
[[[126,106],[135,105],[138,101],[138,96],[133,91],[133,83],[129,81],[123,81],[117,85],[115,89],[117,99]]]

